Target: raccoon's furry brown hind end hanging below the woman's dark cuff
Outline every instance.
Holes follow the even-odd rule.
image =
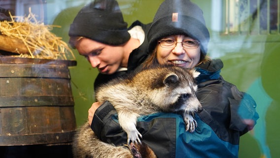
[[[74,158],[133,158],[126,147],[116,147],[99,140],[88,122],[77,130],[72,151]]]

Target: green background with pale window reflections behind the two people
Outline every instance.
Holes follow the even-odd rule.
[[[68,44],[70,24],[78,11],[91,1],[0,0],[0,18],[4,17],[5,9],[10,10],[12,16],[28,16],[32,12],[34,20],[51,26],[50,32]],[[135,20],[145,24],[152,22],[162,1],[118,0],[118,3],[130,26]],[[241,137],[240,158],[280,156],[280,69],[277,67],[280,60],[280,0],[192,1],[204,11],[210,31],[208,55],[222,59],[223,78],[249,93],[257,103],[260,118],[254,129]],[[70,67],[70,75],[76,123],[80,126],[87,120],[88,109],[95,101],[93,83],[98,70],[92,68],[76,49],[70,50],[74,55],[70,60],[77,61],[76,66]]]

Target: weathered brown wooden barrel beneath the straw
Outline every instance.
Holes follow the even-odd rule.
[[[0,57],[0,146],[62,144],[76,130],[69,66]]]

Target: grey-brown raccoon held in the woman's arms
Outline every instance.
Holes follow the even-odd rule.
[[[179,113],[184,118],[186,131],[193,132],[197,122],[191,114],[202,110],[195,95],[197,85],[194,79],[199,74],[193,69],[170,65],[147,68],[134,75],[113,79],[100,86],[96,92],[96,98],[99,102],[109,101],[114,106],[119,124],[127,133],[128,146],[130,142],[141,143],[142,136],[136,128],[137,118],[140,115],[157,112]],[[118,158],[131,156],[132,158],[132,154],[136,154],[133,152],[135,147],[129,146],[130,150],[127,150],[101,142],[89,125],[82,126],[82,129],[77,132],[73,146],[75,157],[88,153],[87,156],[93,158],[99,154],[105,154],[110,158],[114,156]],[[84,149],[92,147],[99,150]],[[115,155],[109,155],[112,152],[107,151],[115,151],[113,152]],[[128,154],[128,152],[131,153]]]

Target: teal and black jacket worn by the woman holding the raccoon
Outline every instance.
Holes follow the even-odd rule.
[[[243,119],[259,118],[253,98],[220,76],[223,64],[211,60],[195,69],[196,95],[204,110],[195,114],[195,132],[185,131],[180,115],[156,113],[138,118],[137,129],[142,142],[147,144],[158,158],[237,158],[240,136],[248,129]],[[116,111],[105,102],[95,112],[91,128],[104,142],[126,144],[127,135],[118,124]]]

